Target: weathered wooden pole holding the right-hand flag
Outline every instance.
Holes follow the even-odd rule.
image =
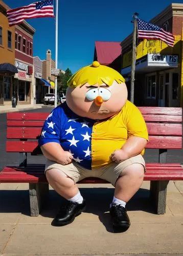
[[[136,62],[136,18],[139,13],[133,13],[133,46],[132,46],[132,63],[131,63],[131,86],[130,86],[130,101],[134,102],[134,80],[135,80],[135,62]]]

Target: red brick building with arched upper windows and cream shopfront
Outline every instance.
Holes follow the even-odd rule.
[[[15,66],[14,92],[17,104],[33,104],[33,35],[35,29],[27,22],[15,26]]]

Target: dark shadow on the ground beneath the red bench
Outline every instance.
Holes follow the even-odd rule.
[[[85,212],[97,215],[106,230],[114,232],[109,214],[109,204],[113,198],[114,188],[80,188],[80,192],[86,199]],[[0,198],[0,212],[21,212],[23,215],[30,216],[28,190],[0,190]],[[53,219],[63,203],[65,203],[65,199],[61,198],[54,190],[50,190],[48,200],[40,215]],[[155,214],[149,201],[148,189],[139,189],[126,208],[127,211],[145,211]]]

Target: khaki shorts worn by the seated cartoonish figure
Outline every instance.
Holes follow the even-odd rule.
[[[116,181],[123,172],[123,170],[133,163],[142,164],[144,166],[144,171],[146,172],[145,161],[142,155],[131,157],[121,163],[109,163],[101,168],[92,170],[85,169],[74,161],[70,164],[62,165],[54,161],[47,160],[47,163],[45,165],[45,172],[49,169],[54,168],[59,169],[60,172],[70,177],[75,183],[84,178],[97,177],[103,180],[107,180],[113,186],[115,186]]]

